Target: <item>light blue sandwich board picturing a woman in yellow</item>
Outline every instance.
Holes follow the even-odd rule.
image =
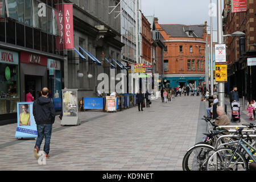
[[[36,138],[35,118],[33,115],[33,102],[17,102],[17,129],[15,138]]]

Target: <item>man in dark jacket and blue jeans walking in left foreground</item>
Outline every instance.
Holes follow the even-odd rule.
[[[36,139],[34,156],[36,159],[39,158],[38,152],[43,139],[45,139],[44,152],[46,152],[46,159],[48,159],[50,157],[49,144],[52,135],[52,124],[55,121],[55,109],[52,101],[48,98],[48,88],[43,88],[41,93],[42,96],[33,104],[33,115],[38,130],[38,139]]]

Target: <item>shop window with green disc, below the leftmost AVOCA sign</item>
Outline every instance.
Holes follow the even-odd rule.
[[[0,114],[17,112],[18,75],[18,65],[0,63]]]

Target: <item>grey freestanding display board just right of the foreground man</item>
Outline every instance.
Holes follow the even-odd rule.
[[[78,89],[62,90],[63,118],[61,120],[61,125],[80,124],[78,115],[77,90]]]

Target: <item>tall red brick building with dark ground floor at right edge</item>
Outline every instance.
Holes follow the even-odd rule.
[[[247,66],[247,58],[255,58],[256,39],[256,0],[247,0],[246,12],[232,13],[231,1],[224,1],[224,35],[236,31],[245,33],[245,36],[224,37],[226,44],[226,59],[228,67],[228,83],[226,90],[229,93],[233,85],[238,86],[240,97],[247,96],[247,99],[256,97],[256,71],[255,67]],[[254,46],[253,46],[254,45]]]

